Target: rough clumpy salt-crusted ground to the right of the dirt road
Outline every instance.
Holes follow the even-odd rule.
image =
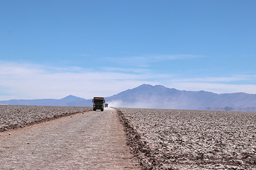
[[[256,169],[256,113],[117,108],[145,169]]]

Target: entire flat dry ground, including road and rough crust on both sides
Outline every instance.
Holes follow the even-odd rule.
[[[0,169],[256,169],[255,112],[91,109],[0,106]]]

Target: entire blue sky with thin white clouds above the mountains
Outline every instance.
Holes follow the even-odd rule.
[[[1,1],[0,100],[142,83],[256,94],[256,1]]]

